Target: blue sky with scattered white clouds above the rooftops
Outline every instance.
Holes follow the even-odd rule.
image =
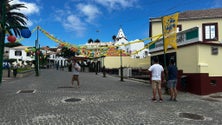
[[[57,39],[76,46],[86,44],[90,38],[113,41],[112,36],[120,28],[128,41],[148,38],[150,18],[222,7],[222,0],[13,0],[11,4],[14,3],[27,7],[20,12],[28,17],[31,31],[40,26]],[[20,42],[35,46],[36,39],[35,31]],[[40,46],[58,46],[41,31],[38,41]]]

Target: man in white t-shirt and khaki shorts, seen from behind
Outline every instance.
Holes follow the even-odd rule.
[[[152,101],[156,102],[156,92],[158,91],[159,95],[159,102],[163,101],[162,98],[162,91],[161,91],[161,83],[164,80],[164,69],[163,66],[159,64],[158,58],[154,58],[154,64],[149,67],[149,71],[151,74],[151,84],[152,84],[152,91],[153,91],[153,97]]]

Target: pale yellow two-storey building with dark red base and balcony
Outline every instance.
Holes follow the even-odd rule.
[[[150,37],[162,33],[161,18],[151,18]],[[168,48],[166,64],[173,58],[187,76],[186,87],[195,94],[222,91],[222,8],[186,11],[179,14],[177,50]],[[164,63],[163,39],[150,47],[151,59]],[[180,80],[179,80],[180,83]],[[178,84],[181,87],[181,84]]]

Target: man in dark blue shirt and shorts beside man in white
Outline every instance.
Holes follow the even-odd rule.
[[[170,101],[177,101],[177,67],[175,66],[174,60],[171,59],[169,66],[167,67],[167,83],[170,89]]]

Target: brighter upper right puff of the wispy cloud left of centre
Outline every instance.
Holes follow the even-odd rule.
[[[87,22],[93,21],[100,14],[96,6],[90,4],[78,4],[77,9],[87,17]]]

